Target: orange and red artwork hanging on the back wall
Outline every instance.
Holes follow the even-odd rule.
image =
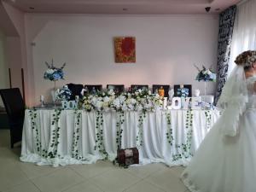
[[[136,62],[135,38],[114,38],[114,55],[117,63]]]

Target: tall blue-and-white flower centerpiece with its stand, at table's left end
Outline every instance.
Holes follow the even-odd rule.
[[[45,65],[47,66],[47,70],[44,72],[44,79],[48,79],[50,81],[55,82],[54,90],[53,90],[53,102],[55,104],[56,100],[56,81],[60,79],[64,79],[64,73],[63,68],[66,66],[66,63],[62,65],[62,67],[58,68],[55,67],[53,64],[53,60],[51,60],[51,63],[45,61]]]

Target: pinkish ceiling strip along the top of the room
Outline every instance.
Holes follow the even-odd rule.
[[[24,12],[111,15],[218,14],[241,0],[4,0]],[[211,7],[206,11],[206,7]]]

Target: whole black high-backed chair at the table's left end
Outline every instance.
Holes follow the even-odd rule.
[[[0,95],[9,119],[11,148],[14,148],[14,144],[22,139],[25,103],[19,88],[0,90]]]

